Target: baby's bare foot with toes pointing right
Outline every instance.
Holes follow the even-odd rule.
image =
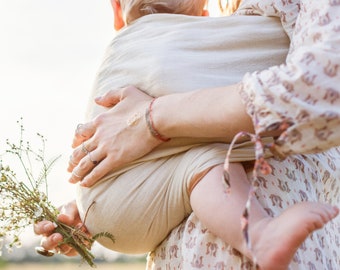
[[[337,207],[303,202],[289,207],[275,218],[250,227],[252,252],[261,270],[286,270],[296,250],[310,233],[321,229],[339,213]]]

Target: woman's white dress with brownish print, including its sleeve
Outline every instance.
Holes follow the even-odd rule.
[[[339,14],[338,0],[244,0],[235,14],[279,17],[292,39],[286,65],[247,74],[241,89],[257,134],[286,128],[274,151],[286,158],[269,158],[271,174],[258,175],[256,196],[272,216],[301,201],[340,203]],[[290,269],[338,269],[339,232],[337,217],[311,234]],[[191,214],[149,254],[147,269],[254,269],[254,264]]]

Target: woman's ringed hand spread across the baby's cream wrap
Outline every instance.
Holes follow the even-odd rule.
[[[78,126],[68,171],[69,181],[94,185],[108,172],[151,152],[162,141],[154,138],[146,124],[145,111],[152,97],[133,86],[112,90],[96,98],[109,108],[93,121]]]

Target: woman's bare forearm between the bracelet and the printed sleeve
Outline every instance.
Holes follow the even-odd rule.
[[[157,99],[154,124],[166,137],[223,137],[227,141],[240,131],[253,132],[238,85],[173,94]]]

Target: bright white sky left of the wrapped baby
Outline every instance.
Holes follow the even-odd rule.
[[[94,77],[114,37],[109,0],[0,0],[0,153],[6,139],[46,139],[61,155],[48,177],[49,199],[74,198],[66,171],[74,130],[84,119]],[[14,168],[15,170],[15,168]]]

